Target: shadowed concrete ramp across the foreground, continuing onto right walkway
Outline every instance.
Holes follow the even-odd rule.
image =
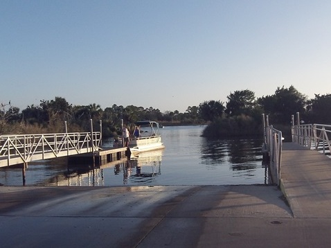
[[[289,205],[264,185],[1,186],[1,247],[330,247],[331,159],[289,148]]]

